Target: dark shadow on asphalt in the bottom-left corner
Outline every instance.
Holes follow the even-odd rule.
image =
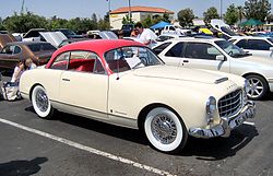
[[[2,176],[29,176],[40,171],[40,164],[47,162],[47,157],[36,157],[31,161],[17,160],[0,163],[0,175]]]

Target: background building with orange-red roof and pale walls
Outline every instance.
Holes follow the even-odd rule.
[[[174,20],[174,12],[163,8],[152,7],[131,7],[131,16],[133,22],[140,22],[146,19],[149,15],[156,16],[163,15],[164,13],[169,14],[169,20]],[[122,19],[129,14],[129,7],[116,9],[110,12],[110,26],[114,30],[119,30],[122,26]]]

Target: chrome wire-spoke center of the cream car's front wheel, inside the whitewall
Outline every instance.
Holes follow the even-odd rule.
[[[175,121],[167,115],[157,115],[152,120],[152,133],[161,143],[169,144],[175,141],[177,128]]]

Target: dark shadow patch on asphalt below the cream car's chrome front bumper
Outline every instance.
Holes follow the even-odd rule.
[[[228,138],[189,138],[181,156],[195,156],[198,160],[218,161],[236,155],[253,138],[259,136],[254,126],[242,124],[233,130]]]

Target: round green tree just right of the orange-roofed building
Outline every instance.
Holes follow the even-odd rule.
[[[193,24],[192,20],[194,19],[194,14],[193,11],[189,8],[185,9],[185,10],[180,10],[177,14],[179,24],[182,27],[186,26],[191,26]]]

